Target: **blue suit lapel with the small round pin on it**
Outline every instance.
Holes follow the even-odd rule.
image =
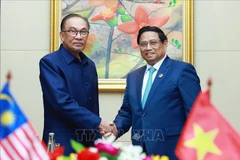
[[[162,65],[160,66],[158,73],[154,79],[154,82],[152,84],[151,90],[149,92],[144,110],[148,107],[148,103],[151,101],[151,99],[154,97],[155,92],[157,91],[159,85],[161,84],[162,80],[167,75],[167,72],[171,69],[171,59],[167,56],[165,60],[163,61]]]

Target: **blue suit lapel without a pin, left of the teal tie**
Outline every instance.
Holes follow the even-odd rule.
[[[142,108],[142,84],[143,84],[143,76],[146,70],[146,66],[142,67],[136,78],[136,94],[137,94],[137,102],[138,105]]]

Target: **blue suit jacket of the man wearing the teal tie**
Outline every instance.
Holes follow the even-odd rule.
[[[184,122],[201,90],[200,80],[191,64],[163,61],[154,79],[145,108],[141,105],[146,66],[127,75],[123,104],[114,122],[119,136],[132,126],[132,143],[146,145],[148,154],[176,159],[174,150]]]

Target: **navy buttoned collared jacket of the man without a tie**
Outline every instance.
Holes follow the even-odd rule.
[[[70,139],[90,146],[100,137],[96,133],[101,118],[95,64],[79,54],[81,62],[61,45],[58,51],[40,60],[43,140],[47,144],[49,132],[54,132],[56,143],[65,147],[65,155],[74,152]]]

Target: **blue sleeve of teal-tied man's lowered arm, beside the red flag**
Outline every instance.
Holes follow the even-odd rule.
[[[195,68],[191,64],[186,64],[179,77],[178,82],[180,94],[183,100],[186,116],[188,116],[192,105],[201,91],[200,79]]]

